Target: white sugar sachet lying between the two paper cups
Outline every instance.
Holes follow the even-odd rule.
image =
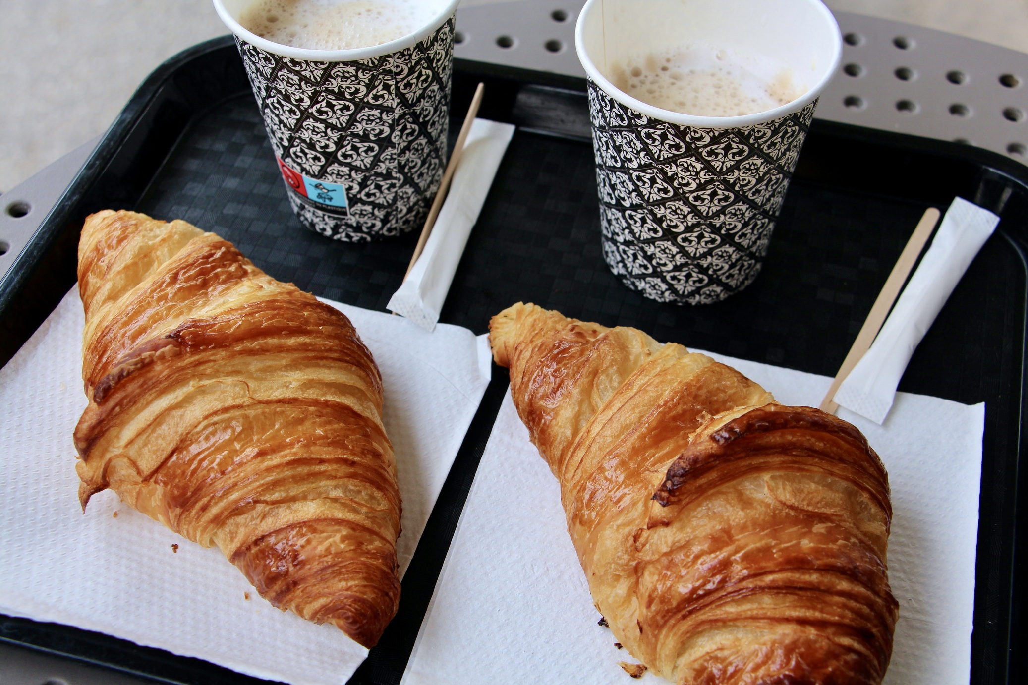
[[[478,221],[514,129],[510,123],[488,119],[472,122],[446,202],[425,250],[407,280],[390,298],[390,311],[426,330],[435,328],[471,228]]]

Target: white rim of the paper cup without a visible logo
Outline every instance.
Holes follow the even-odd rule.
[[[219,2],[220,0],[215,0]],[[578,22],[575,24],[575,50],[578,52],[579,62],[582,63],[582,67],[585,69],[586,75],[592,80],[603,93],[614,98],[616,101],[628,107],[640,112],[650,118],[658,119],[660,121],[667,121],[669,123],[676,123],[678,125],[694,127],[697,129],[738,129],[742,127],[751,127],[758,123],[766,123],[768,121],[773,121],[775,119],[781,118],[788,114],[800,111],[810,103],[814,102],[821,96],[824,88],[828,87],[829,83],[835,78],[836,72],[839,71],[839,64],[842,62],[842,31],[839,29],[839,23],[836,21],[835,14],[832,10],[821,2],[821,0],[808,0],[810,4],[814,5],[817,11],[828,19],[829,25],[835,27],[835,32],[833,34],[833,42],[835,43],[835,57],[832,60],[830,68],[824,71],[824,76],[821,77],[813,87],[809,88],[801,97],[793,100],[792,102],[785,103],[774,109],[768,109],[763,112],[755,112],[752,114],[741,114],[738,116],[698,116],[696,114],[683,114],[682,112],[673,112],[668,109],[661,109],[660,107],[654,107],[653,105],[648,105],[641,100],[636,100],[626,93],[615,87],[610,80],[607,79],[603,74],[599,72],[596,65],[593,64],[592,60],[585,51],[585,17],[589,13],[589,10],[601,0],[588,0],[579,12]]]

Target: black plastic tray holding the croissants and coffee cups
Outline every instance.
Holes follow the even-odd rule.
[[[1026,568],[1017,494],[1025,478],[1018,466],[1028,169],[969,146],[815,120],[758,281],[714,305],[661,304],[621,285],[600,256],[584,81],[457,61],[453,112],[465,111],[478,80],[486,82],[480,115],[519,130],[442,313],[476,333],[501,309],[535,301],[661,340],[833,375],[926,207],[945,209],[959,194],[1001,215],[900,388],[986,402],[971,682],[1026,682],[1025,655],[1016,649],[1025,644],[1024,593],[1015,579]],[[235,46],[215,39],[147,79],[0,283],[0,363],[72,286],[82,220],[104,208],[186,219],[233,241],[278,279],[375,310],[399,286],[416,241],[409,233],[358,246],[302,229]],[[351,682],[399,682],[506,386],[506,371],[494,367],[404,579],[399,614]],[[161,682],[261,682],[25,619],[0,617],[0,640]]]

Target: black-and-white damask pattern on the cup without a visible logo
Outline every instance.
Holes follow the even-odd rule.
[[[725,299],[757,278],[814,101],[746,128],[648,117],[589,81],[603,257],[665,302]]]

